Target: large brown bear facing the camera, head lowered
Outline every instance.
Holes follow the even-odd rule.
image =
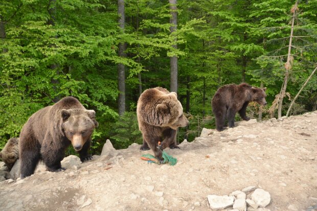
[[[61,171],[60,161],[70,144],[82,162],[92,159],[88,149],[90,136],[97,126],[95,111],[86,110],[73,97],[65,97],[35,112],[20,133],[21,178],[33,174],[40,159],[49,171]]]

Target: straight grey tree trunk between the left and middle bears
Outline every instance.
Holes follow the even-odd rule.
[[[124,0],[118,0],[118,15],[119,15],[119,26],[124,33],[125,25],[125,13],[124,13]],[[125,43],[119,43],[118,55],[120,57],[125,57]],[[118,111],[119,115],[122,115],[125,112],[125,66],[124,64],[118,64]]]

